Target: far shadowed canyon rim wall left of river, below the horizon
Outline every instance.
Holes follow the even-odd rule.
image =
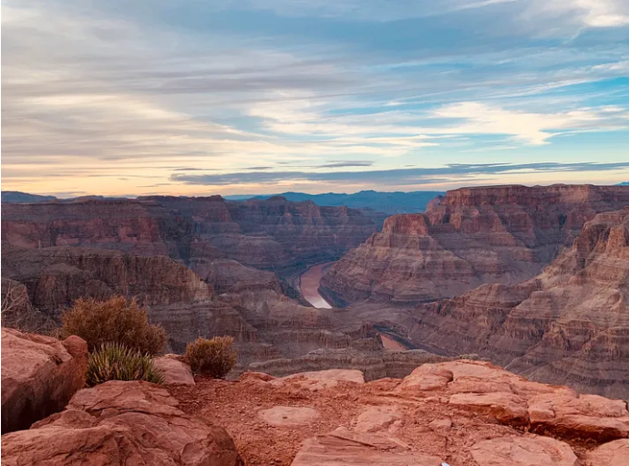
[[[18,247],[80,245],[185,264],[233,259],[291,273],[333,260],[365,241],[376,224],[346,207],[314,202],[227,202],[221,196],[151,196],[2,205],[2,240]]]

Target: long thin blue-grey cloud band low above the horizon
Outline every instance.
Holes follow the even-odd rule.
[[[487,163],[487,164],[449,164],[438,168],[409,168],[374,171],[250,171],[209,175],[172,175],[171,181],[193,185],[234,185],[234,184],[273,184],[280,181],[334,181],[404,185],[427,184],[431,182],[451,181],[452,178],[465,178],[470,175],[487,175],[508,172],[562,173],[567,171],[615,171],[629,168],[629,161],[615,163]]]

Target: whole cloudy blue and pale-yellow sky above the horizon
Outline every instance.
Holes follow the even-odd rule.
[[[2,189],[629,181],[627,0],[4,0]]]

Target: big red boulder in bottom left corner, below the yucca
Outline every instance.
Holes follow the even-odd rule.
[[[6,466],[74,464],[242,466],[230,436],[187,416],[159,386],[107,382],[79,391],[66,410],[2,436]]]

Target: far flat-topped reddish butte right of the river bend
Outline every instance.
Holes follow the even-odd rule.
[[[493,186],[448,192],[426,213],[394,215],[321,283],[337,305],[407,304],[513,285],[539,274],[583,223],[629,205],[623,186]]]

